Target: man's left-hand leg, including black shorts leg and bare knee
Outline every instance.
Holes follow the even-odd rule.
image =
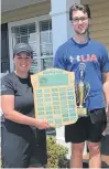
[[[83,167],[83,151],[87,140],[88,117],[78,118],[73,125],[65,126],[65,140],[72,142],[70,168]]]

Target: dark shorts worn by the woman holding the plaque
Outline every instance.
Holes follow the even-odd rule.
[[[43,167],[47,162],[45,130],[12,122],[1,127],[2,168]]]

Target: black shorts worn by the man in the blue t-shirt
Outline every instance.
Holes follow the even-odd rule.
[[[106,128],[106,122],[105,108],[91,110],[87,117],[80,117],[75,124],[65,126],[65,141],[73,144],[85,140],[98,142]]]

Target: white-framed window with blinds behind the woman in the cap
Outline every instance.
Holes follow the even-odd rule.
[[[34,20],[32,22],[32,20]],[[24,23],[25,22],[25,23]],[[17,23],[17,24],[15,24]],[[33,63],[31,72],[36,73],[53,66],[53,41],[52,41],[52,20],[30,19],[30,22],[23,21],[10,23],[9,41],[11,42],[12,55],[13,46],[17,43],[29,43],[33,49]],[[12,62],[12,60],[11,60]],[[13,64],[13,63],[12,63]],[[13,71],[13,70],[12,70]]]

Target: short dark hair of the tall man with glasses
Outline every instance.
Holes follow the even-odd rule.
[[[76,11],[76,10],[83,11],[84,13],[87,13],[88,18],[91,18],[90,9],[89,9],[88,4],[75,3],[69,8],[69,20],[70,21],[73,21],[73,11]]]

